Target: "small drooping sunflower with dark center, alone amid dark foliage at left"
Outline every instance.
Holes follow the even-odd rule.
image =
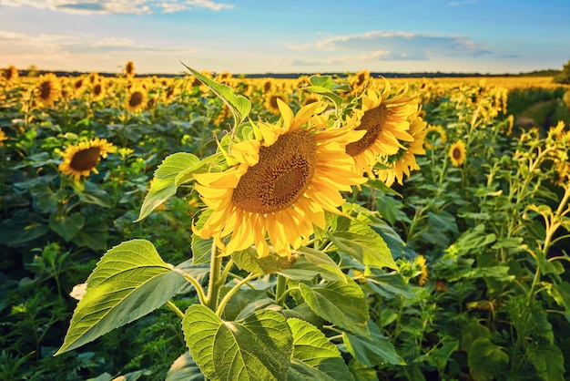
[[[79,181],[81,176],[89,176],[91,171],[98,173],[97,163],[100,158],[107,158],[107,153],[117,151],[117,147],[108,143],[107,139],[94,138],[89,141],[80,141],[76,146],[67,147],[62,153],[63,162],[59,170],[64,175],[70,175]]]

